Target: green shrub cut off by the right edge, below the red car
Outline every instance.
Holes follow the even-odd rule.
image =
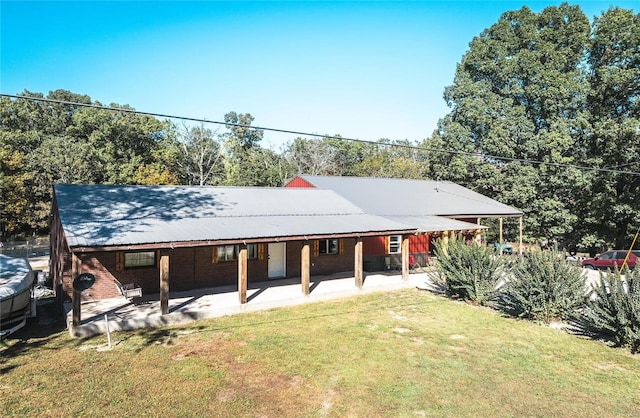
[[[600,273],[595,298],[584,319],[589,326],[612,338],[618,347],[640,348],[640,273],[637,269]]]

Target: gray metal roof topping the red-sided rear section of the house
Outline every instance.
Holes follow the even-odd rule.
[[[381,216],[522,216],[522,212],[450,181],[367,177],[299,176],[333,190],[367,213]]]

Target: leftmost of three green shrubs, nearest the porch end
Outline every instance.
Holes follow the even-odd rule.
[[[491,305],[497,300],[497,287],[504,278],[503,258],[493,249],[465,244],[452,239],[448,245],[439,240],[435,244],[436,274],[431,278],[444,287],[450,296],[479,305]]]

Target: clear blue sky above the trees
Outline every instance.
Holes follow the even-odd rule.
[[[423,140],[469,42],[507,10],[557,1],[0,2],[0,92],[255,126]],[[593,19],[610,5],[577,1]],[[214,126],[215,127],[215,126]],[[265,133],[278,149],[295,135]]]

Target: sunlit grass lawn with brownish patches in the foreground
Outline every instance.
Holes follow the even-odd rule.
[[[3,415],[640,415],[640,356],[419,290],[112,337],[5,342]]]

